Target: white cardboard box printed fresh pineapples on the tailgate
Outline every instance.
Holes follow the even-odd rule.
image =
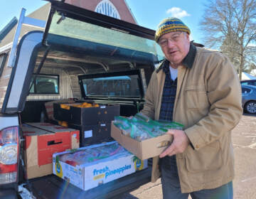
[[[115,142],[115,141],[114,141]],[[79,150],[95,148],[102,145],[112,144],[97,144],[93,146],[83,147]],[[53,173],[60,178],[78,186],[82,190],[89,190],[98,185],[114,181],[117,178],[127,176],[136,171],[147,168],[147,160],[140,161],[128,151],[125,154],[111,156],[92,163],[72,166],[68,163],[60,161],[58,156],[68,154],[68,151],[63,153],[53,154]]]

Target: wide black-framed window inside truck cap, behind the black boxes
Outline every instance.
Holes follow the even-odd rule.
[[[84,79],[82,84],[86,96],[140,97],[138,75]]]

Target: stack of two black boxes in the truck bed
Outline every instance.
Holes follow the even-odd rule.
[[[69,109],[54,103],[54,118],[68,122],[68,127],[80,130],[80,147],[112,141],[111,121],[120,114],[119,104],[99,104],[99,107],[74,107]]]

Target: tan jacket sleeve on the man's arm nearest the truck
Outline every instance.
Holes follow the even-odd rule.
[[[141,111],[142,114],[146,115],[147,117],[150,117],[151,119],[155,119],[155,85],[157,84],[156,80],[156,72],[153,72],[151,75],[151,79],[149,81],[149,86],[146,88],[146,95],[145,95],[145,104]]]

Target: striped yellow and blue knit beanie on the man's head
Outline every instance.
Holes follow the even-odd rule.
[[[176,31],[186,32],[188,35],[191,33],[188,26],[180,19],[174,17],[164,18],[164,20],[159,23],[159,26],[157,26],[155,41],[158,42],[159,38],[166,33]]]

